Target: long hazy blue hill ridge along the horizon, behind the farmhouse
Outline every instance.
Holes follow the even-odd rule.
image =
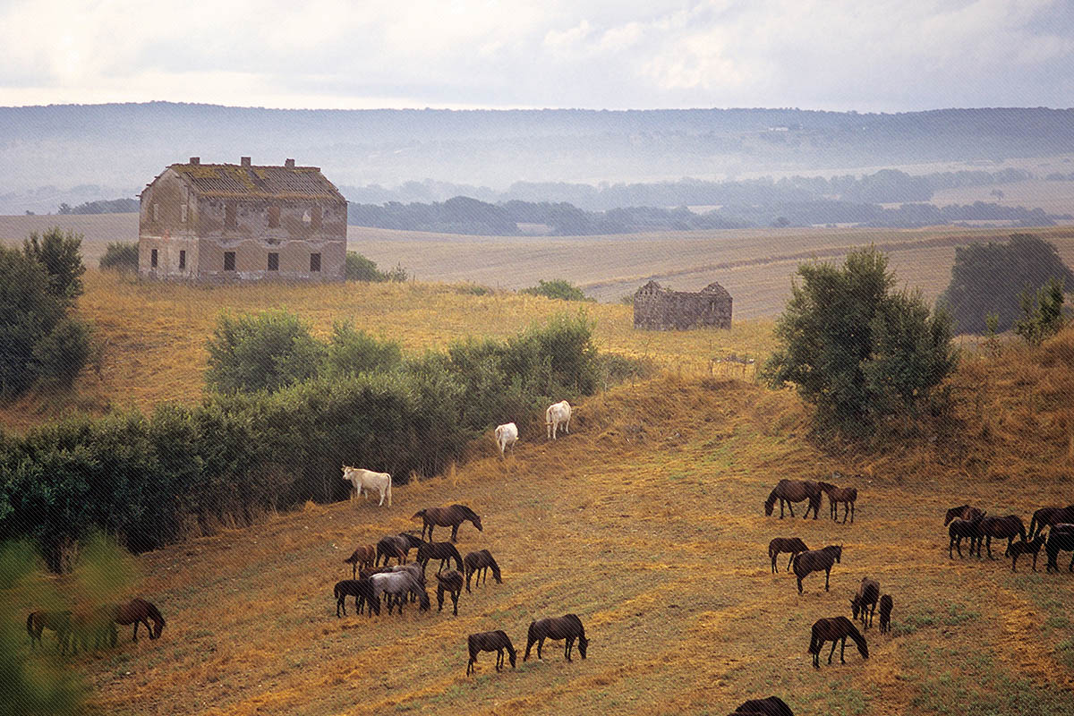
[[[321,166],[339,186],[429,178],[503,190],[516,181],[727,178],[1051,156],[1074,151],[1074,111],[342,111],[150,102],[0,107],[0,196],[39,187],[141,187],[190,156],[264,163],[292,157]],[[125,193],[108,191],[59,201]],[[58,193],[37,210],[55,210]]]

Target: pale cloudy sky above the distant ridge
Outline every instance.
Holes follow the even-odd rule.
[[[1074,106],[1071,0],[0,0],[0,105]]]

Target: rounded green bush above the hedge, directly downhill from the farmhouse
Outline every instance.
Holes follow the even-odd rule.
[[[284,310],[223,315],[206,348],[205,381],[223,393],[277,391],[315,376],[324,360],[323,344]]]

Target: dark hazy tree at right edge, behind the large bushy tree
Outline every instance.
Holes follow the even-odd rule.
[[[1074,286],[1074,274],[1056,247],[1032,234],[1013,234],[1008,244],[971,244],[955,249],[950,284],[940,296],[958,330],[983,334],[985,317],[999,317],[997,330],[1007,331],[1019,318],[1019,287],[1037,291],[1048,279]]]

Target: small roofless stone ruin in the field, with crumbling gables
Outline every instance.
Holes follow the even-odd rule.
[[[649,281],[634,294],[635,328],[688,331],[709,326],[731,327],[731,294],[719,283],[690,293]]]

